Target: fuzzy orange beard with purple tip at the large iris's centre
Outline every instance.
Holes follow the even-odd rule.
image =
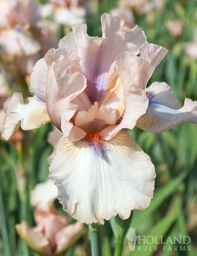
[[[103,140],[99,132],[89,133],[86,139],[88,145],[93,147],[96,154],[102,157],[106,147],[105,140]]]

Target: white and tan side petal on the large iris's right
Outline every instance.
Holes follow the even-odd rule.
[[[185,99],[184,106],[174,98],[166,83],[153,83],[146,91],[153,91],[155,97],[149,103],[146,113],[136,126],[149,132],[163,132],[181,123],[197,123],[197,102]]]

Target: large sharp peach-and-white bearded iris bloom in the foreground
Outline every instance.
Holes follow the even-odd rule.
[[[124,29],[118,17],[103,14],[101,23],[102,37],[77,25],[36,63],[34,97],[27,105],[20,93],[6,101],[3,136],[20,121],[23,130],[53,122],[62,132],[50,166],[58,199],[73,218],[103,224],[145,209],[153,196],[154,165],[125,129],[197,123],[197,103],[186,99],[177,109],[165,83],[146,89],[167,50],[147,43],[137,26]]]

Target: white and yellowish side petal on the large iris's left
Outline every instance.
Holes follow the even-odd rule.
[[[33,130],[51,122],[46,110],[46,104],[38,97],[29,98],[29,103],[23,103],[22,94],[15,92],[4,103],[6,117],[2,137],[9,140],[15,128],[21,121],[22,130]]]

